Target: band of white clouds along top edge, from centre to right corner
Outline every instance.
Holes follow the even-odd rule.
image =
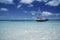
[[[25,4],[31,4],[34,1],[38,1],[38,2],[46,2],[45,5],[49,5],[49,6],[58,6],[60,5],[60,0],[21,0],[21,3],[25,3]]]

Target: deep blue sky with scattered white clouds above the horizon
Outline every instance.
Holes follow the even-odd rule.
[[[0,0],[0,20],[60,19],[60,0]]]

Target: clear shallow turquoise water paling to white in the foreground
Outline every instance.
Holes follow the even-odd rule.
[[[60,21],[0,21],[0,40],[60,40]]]

